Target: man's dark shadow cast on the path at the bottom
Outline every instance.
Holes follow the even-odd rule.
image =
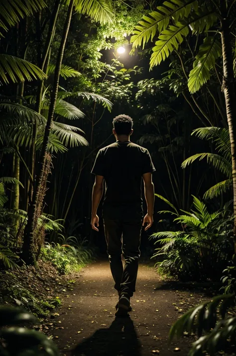
[[[132,320],[116,318],[109,329],[99,329],[78,344],[73,356],[141,356],[141,345]]]

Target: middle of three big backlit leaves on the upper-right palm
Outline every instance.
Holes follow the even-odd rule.
[[[152,48],[150,69],[164,61],[174,49],[178,49],[189,33],[189,24],[178,22],[163,30]]]

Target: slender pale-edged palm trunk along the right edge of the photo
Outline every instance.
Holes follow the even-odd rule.
[[[227,19],[222,20],[222,52],[223,52],[223,90],[226,101],[226,114],[230,132],[231,155],[232,155],[232,178],[234,191],[234,248],[236,255],[236,93],[233,66],[233,49],[231,35]]]

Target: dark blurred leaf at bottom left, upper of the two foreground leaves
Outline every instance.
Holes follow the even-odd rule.
[[[0,307],[0,327],[38,322],[37,318],[21,308]]]

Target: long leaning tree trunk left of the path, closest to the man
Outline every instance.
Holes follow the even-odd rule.
[[[49,135],[50,135],[50,131],[51,131],[51,124],[52,124],[55,106],[56,106],[61,65],[62,65],[64,49],[65,49],[66,40],[67,40],[70,22],[71,22],[71,17],[72,17],[73,3],[74,3],[74,0],[70,0],[69,6],[68,6],[68,11],[67,11],[67,16],[66,16],[66,20],[65,20],[65,24],[64,24],[63,34],[62,34],[62,38],[61,38],[61,44],[60,44],[60,48],[59,48],[58,55],[57,55],[57,61],[56,61],[56,67],[55,67],[55,73],[54,73],[54,82],[53,82],[50,106],[49,106],[49,111],[48,111],[48,119],[47,119],[47,124],[45,127],[43,145],[42,145],[41,157],[40,157],[41,170],[40,170],[40,175],[36,178],[36,184],[35,184],[35,189],[33,192],[32,203],[28,210],[28,221],[27,221],[27,225],[25,227],[23,251],[22,251],[22,259],[25,261],[26,264],[32,264],[32,263],[36,262],[36,256],[34,253],[34,236],[33,236],[33,231],[34,231],[34,226],[35,226],[34,220],[36,218],[36,215],[38,215],[37,202],[40,199],[40,196],[39,196],[40,191],[41,191],[40,186],[41,186],[43,175],[44,175],[48,139],[49,139]]]

